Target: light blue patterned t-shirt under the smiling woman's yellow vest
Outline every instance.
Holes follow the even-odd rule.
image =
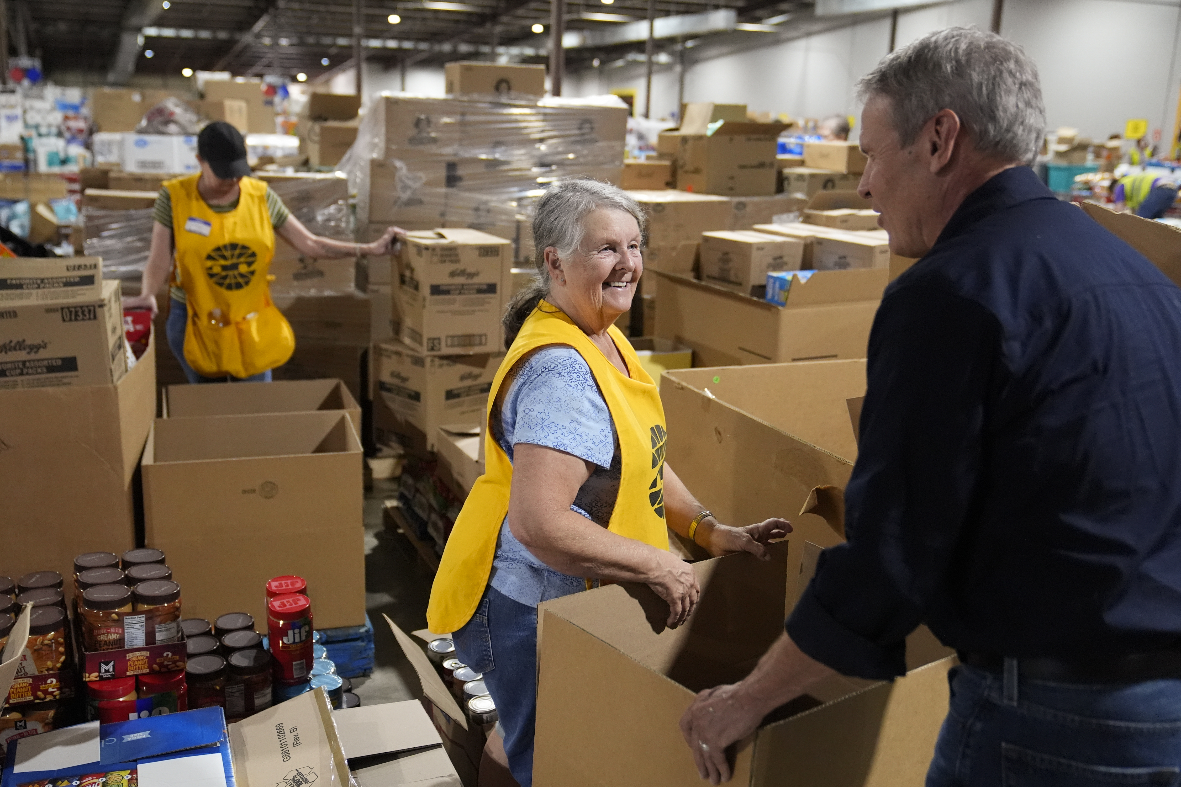
[[[619,494],[622,460],[611,411],[590,367],[572,347],[543,347],[517,362],[510,374],[507,389],[502,386],[507,393],[492,404],[492,437],[509,461],[516,444],[529,442],[595,464],[570,510],[606,527]],[[490,584],[529,606],[586,590],[582,577],[554,571],[534,557],[513,536],[508,517],[501,524]]]

